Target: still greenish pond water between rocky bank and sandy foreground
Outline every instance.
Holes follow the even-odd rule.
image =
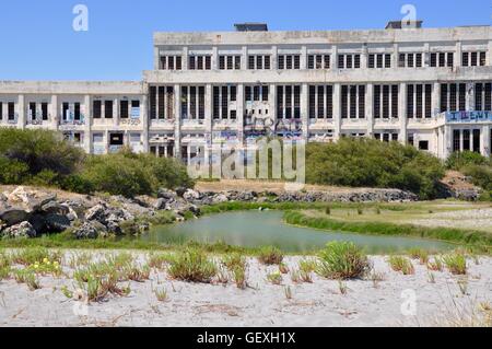
[[[198,220],[154,228],[141,239],[159,243],[196,241],[258,247],[272,245],[286,253],[304,253],[323,248],[331,241],[349,241],[367,253],[391,253],[410,247],[445,251],[455,245],[413,237],[394,237],[319,231],[288,225],[280,211],[241,211],[207,216]]]

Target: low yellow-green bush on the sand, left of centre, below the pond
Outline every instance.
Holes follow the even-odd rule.
[[[176,280],[209,283],[216,276],[218,268],[202,251],[188,248],[173,258],[168,274]]]

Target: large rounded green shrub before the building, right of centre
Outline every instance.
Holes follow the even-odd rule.
[[[429,199],[436,196],[443,176],[437,158],[398,142],[347,138],[306,148],[306,181],[311,184],[393,187]]]

